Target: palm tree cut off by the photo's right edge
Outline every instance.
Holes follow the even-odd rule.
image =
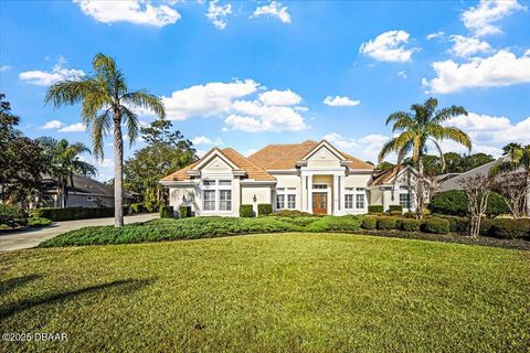
[[[522,170],[527,178],[527,197],[526,207],[527,215],[530,216],[530,145],[521,146],[520,143],[508,143],[502,148],[502,156],[506,158],[494,165],[489,171],[491,176],[510,173]]]

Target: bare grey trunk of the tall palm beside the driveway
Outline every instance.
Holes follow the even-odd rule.
[[[114,226],[124,225],[124,138],[121,136],[121,117],[114,119]]]

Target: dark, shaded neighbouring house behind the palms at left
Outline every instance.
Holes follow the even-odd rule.
[[[73,184],[72,184],[73,181]],[[66,207],[82,206],[114,206],[114,188],[106,185],[88,176],[74,175],[67,183]],[[42,180],[42,200],[47,206],[57,206],[57,182],[45,175]],[[124,204],[134,202],[129,193],[124,195]]]

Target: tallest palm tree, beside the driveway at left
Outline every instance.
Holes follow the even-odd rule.
[[[127,82],[114,58],[104,54],[94,56],[93,75],[62,81],[53,84],[45,101],[55,107],[82,105],[83,124],[92,133],[94,154],[103,159],[103,137],[114,131],[114,206],[115,226],[124,225],[124,138],[121,124],[127,127],[130,143],[138,136],[138,116],[134,108],[152,110],[160,118],[166,117],[159,97],[145,89],[129,92]]]

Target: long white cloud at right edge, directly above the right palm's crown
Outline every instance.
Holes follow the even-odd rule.
[[[436,77],[423,84],[428,93],[448,94],[471,87],[498,87],[530,83],[530,51],[517,57],[501,50],[492,56],[470,58],[458,64],[452,60],[433,63]]]

